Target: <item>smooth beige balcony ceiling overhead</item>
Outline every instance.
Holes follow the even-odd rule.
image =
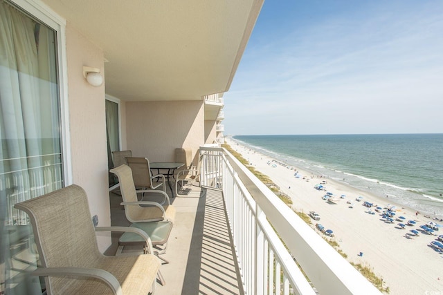
[[[103,49],[107,94],[154,101],[228,91],[264,0],[43,1]]]

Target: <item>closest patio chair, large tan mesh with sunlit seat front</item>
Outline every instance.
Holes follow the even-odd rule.
[[[95,231],[137,232],[152,253],[150,238],[140,229],[103,227],[94,230],[85,191],[71,185],[18,204],[28,213],[39,252],[39,267],[48,294],[148,294],[161,262],[152,254],[104,256]]]

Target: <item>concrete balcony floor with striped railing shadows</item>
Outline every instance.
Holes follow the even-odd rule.
[[[169,187],[167,192],[171,196]],[[129,225],[120,205],[122,198],[116,193],[109,198],[111,225]],[[244,294],[221,191],[192,187],[188,196],[171,198],[171,202],[177,215],[168,249],[161,255],[169,261],[161,266],[166,284],[156,283],[154,294]],[[118,236],[113,234],[107,255],[115,254]],[[141,254],[141,247],[125,247],[124,252]]]

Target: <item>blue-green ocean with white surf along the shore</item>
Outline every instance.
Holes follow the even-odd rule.
[[[443,134],[235,135],[233,140],[443,218]]]

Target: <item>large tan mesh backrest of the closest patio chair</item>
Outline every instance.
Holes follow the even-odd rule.
[[[87,195],[78,185],[15,204],[28,213],[43,267],[87,267],[102,257]],[[52,294],[73,280],[46,277]]]

